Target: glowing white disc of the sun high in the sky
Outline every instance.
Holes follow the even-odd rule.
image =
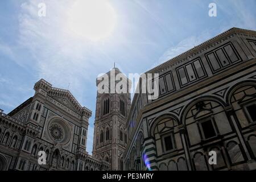
[[[76,0],[68,12],[69,30],[92,41],[108,38],[115,23],[115,11],[106,0]]]

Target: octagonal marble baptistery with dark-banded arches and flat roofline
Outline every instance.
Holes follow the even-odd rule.
[[[256,169],[255,31],[232,28],[146,73],[159,97],[133,98],[126,170]]]

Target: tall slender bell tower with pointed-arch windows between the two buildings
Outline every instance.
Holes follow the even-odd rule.
[[[93,156],[110,163],[110,170],[122,170],[127,145],[126,118],[131,105],[130,80],[111,69],[98,77],[94,121]]]

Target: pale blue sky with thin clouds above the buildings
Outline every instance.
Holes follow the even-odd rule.
[[[89,154],[96,78],[114,63],[126,75],[143,73],[229,28],[256,30],[255,0],[77,1],[0,1],[0,109],[9,113],[33,96],[40,78],[69,89],[93,113]],[[210,3],[217,16],[209,16]]]

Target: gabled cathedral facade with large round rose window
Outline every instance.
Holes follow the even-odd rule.
[[[109,163],[86,152],[92,111],[68,90],[36,82],[35,94],[9,114],[0,113],[0,170],[94,171]],[[39,164],[39,151],[45,162]]]

